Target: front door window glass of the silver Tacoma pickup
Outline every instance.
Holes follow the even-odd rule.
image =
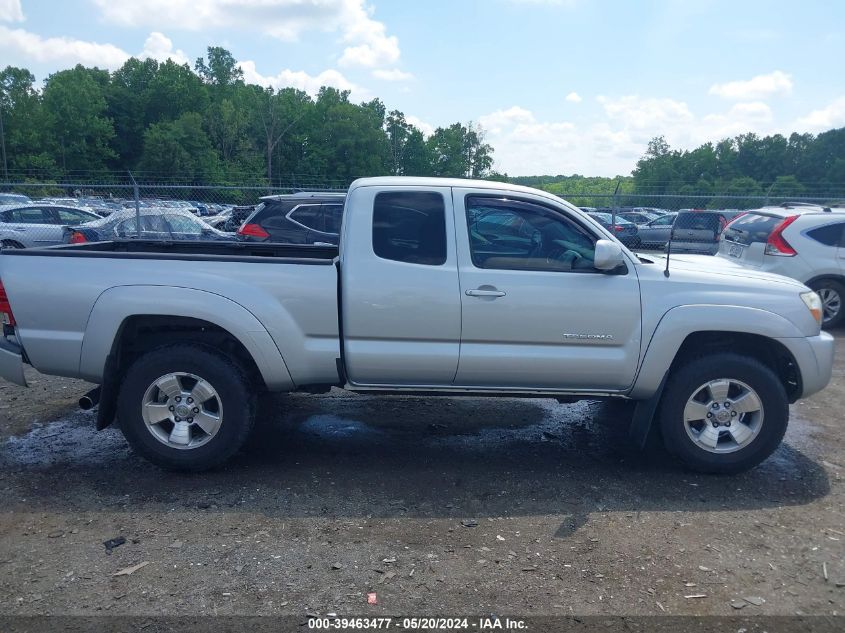
[[[547,207],[501,198],[466,201],[472,262],[478,268],[594,272],[595,239]]]

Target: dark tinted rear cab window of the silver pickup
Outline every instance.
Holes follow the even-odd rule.
[[[376,194],[373,251],[383,259],[440,266],[446,263],[446,206],[439,193]]]

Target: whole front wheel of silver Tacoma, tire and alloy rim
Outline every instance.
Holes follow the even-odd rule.
[[[771,369],[752,358],[718,353],[670,375],[659,415],[666,448],[686,466],[738,473],[780,445],[789,402]]]

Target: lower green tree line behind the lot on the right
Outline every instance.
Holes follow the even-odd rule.
[[[818,135],[740,134],[692,150],[653,138],[630,176],[524,176],[512,182],[581,206],[750,208],[769,199],[845,198],[845,128]],[[743,200],[740,197],[747,197]]]

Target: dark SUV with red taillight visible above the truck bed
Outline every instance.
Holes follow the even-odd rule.
[[[238,235],[250,242],[337,244],[345,193],[300,192],[261,198]]]

